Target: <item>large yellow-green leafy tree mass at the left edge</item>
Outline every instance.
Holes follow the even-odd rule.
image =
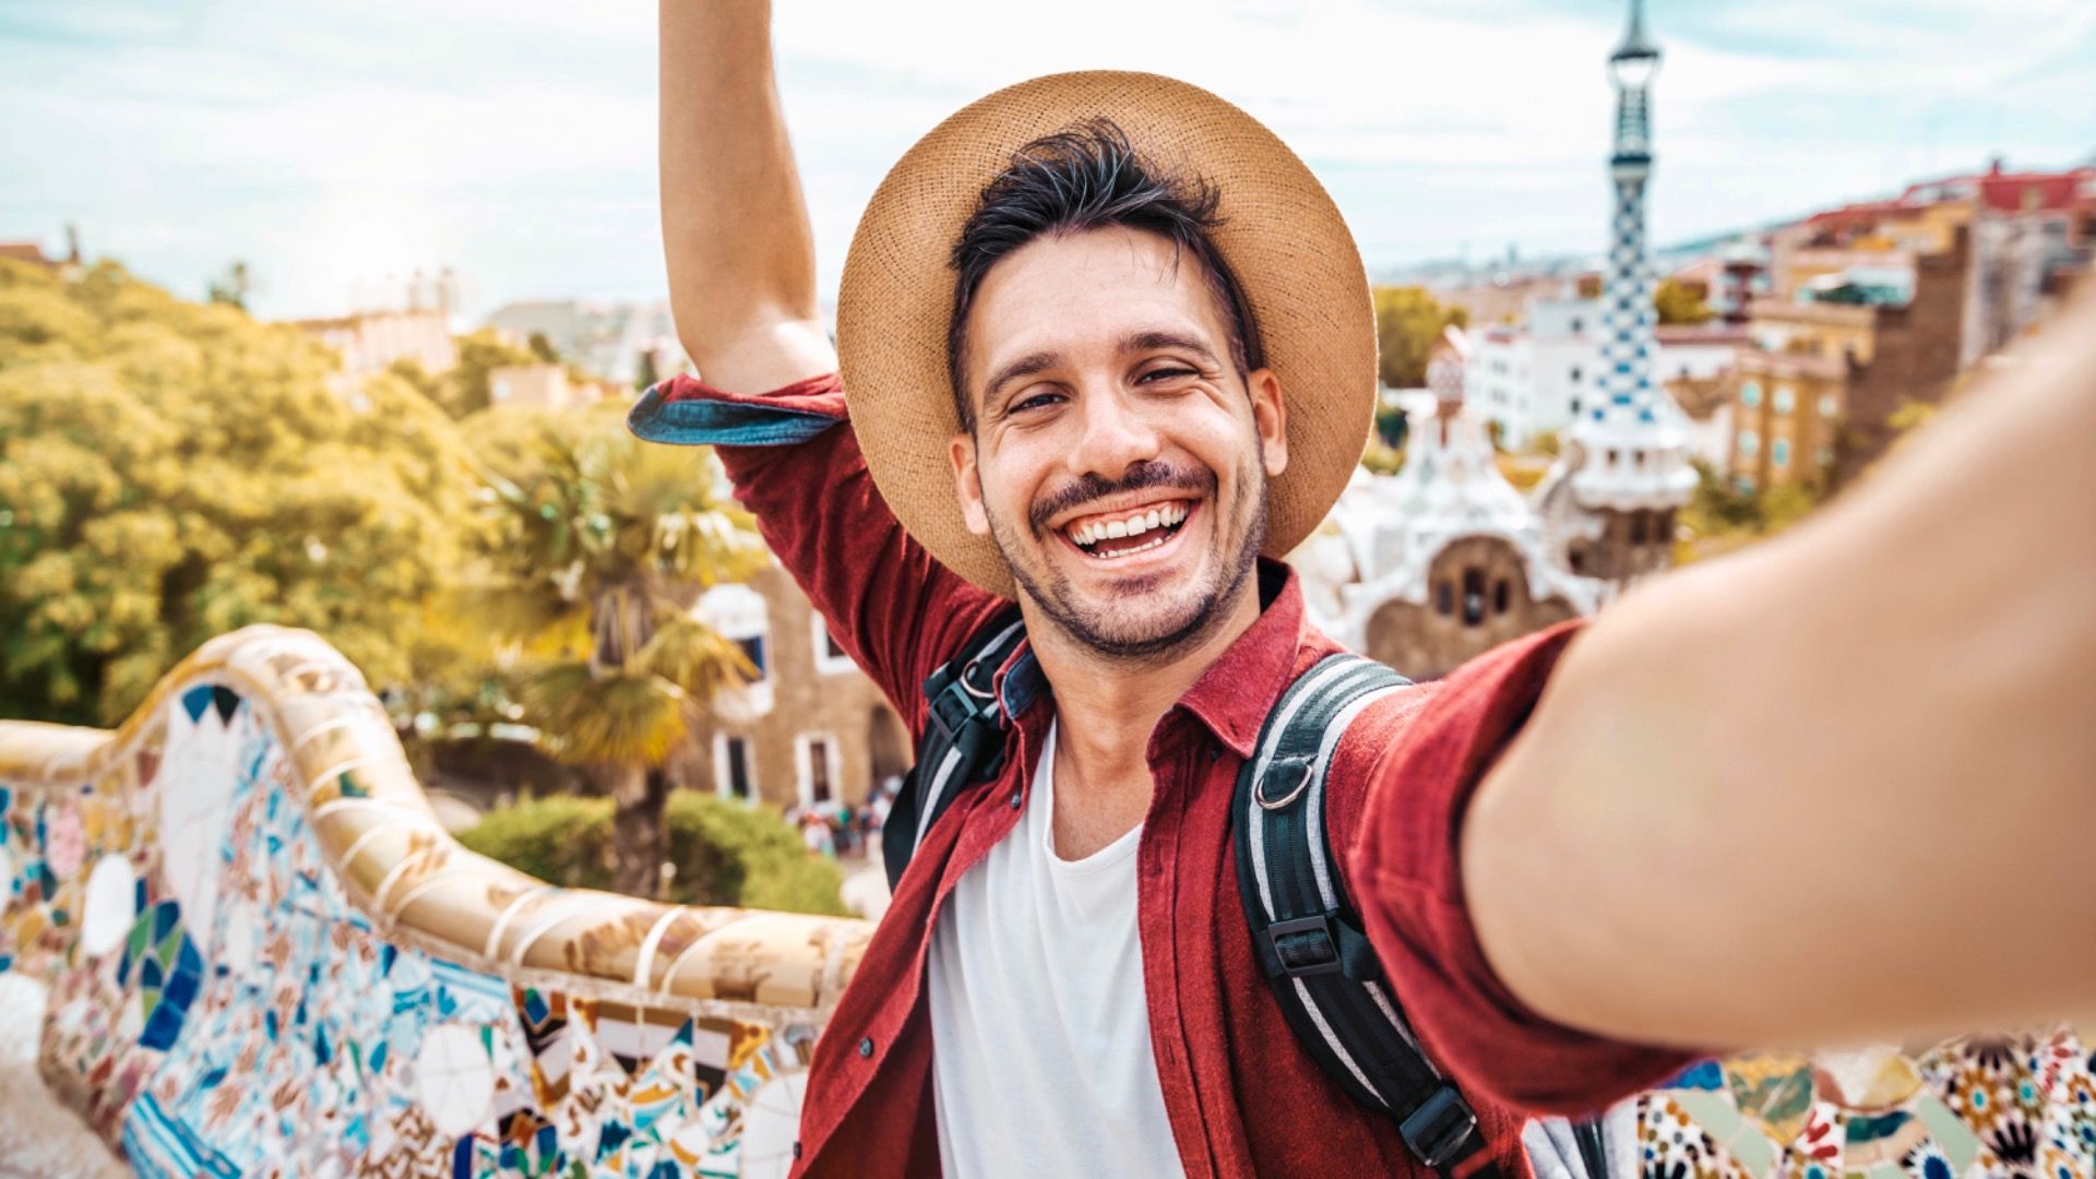
[[[398,378],[331,378],[304,331],[113,262],[0,262],[0,715],[117,722],[247,623],[312,627],[373,686],[407,678],[472,470]]]

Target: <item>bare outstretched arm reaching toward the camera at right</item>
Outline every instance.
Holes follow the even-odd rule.
[[[1700,1047],[2096,1013],[2096,304],[1995,384],[1572,646],[1463,831],[1524,1003]]]

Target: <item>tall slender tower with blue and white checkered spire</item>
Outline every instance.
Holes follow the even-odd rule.
[[[1645,36],[1643,0],[1608,57],[1616,86],[1614,185],[1603,298],[1601,396],[1566,432],[1566,457],[1543,489],[1545,520],[1572,573],[1614,587],[1666,569],[1675,510],[1696,489],[1689,426],[1652,378],[1654,275],[1645,258],[1645,180],[1652,176],[1652,76],[1660,50]]]

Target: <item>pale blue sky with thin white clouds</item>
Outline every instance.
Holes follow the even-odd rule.
[[[723,2],[723,0],[690,0]],[[78,224],[264,317],[660,298],[654,4],[0,0],[0,239]],[[866,197],[954,109],[1151,69],[1272,126],[1371,273],[1599,252],[1622,0],[780,0],[786,117],[834,292]],[[2096,157],[2096,2],[1650,0],[1658,243],[1966,172]]]

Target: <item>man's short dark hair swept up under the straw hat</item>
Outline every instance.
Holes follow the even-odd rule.
[[[1128,134],[1105,117],[1063,128],[1014,151],[1010,168],[983,187],[949,258],[956,275],[954,317],[945,329],[945,367],[962,428],[975,428],[975,399],[962,380],[975,292],[998,260],[1035,237],[1119,224],[1170,239],[1174,258],[1193,254],[1201,262],[1209,294],[1224,310],[1230,361],[1239,376],[1262,367],[1251,304],[1245,302],[1237,277],[1209,239],[1209,233],[1222,227],[1216,214],[1220,199],[1216,187],[1201,176],[1159,172],[1130,147]]]

